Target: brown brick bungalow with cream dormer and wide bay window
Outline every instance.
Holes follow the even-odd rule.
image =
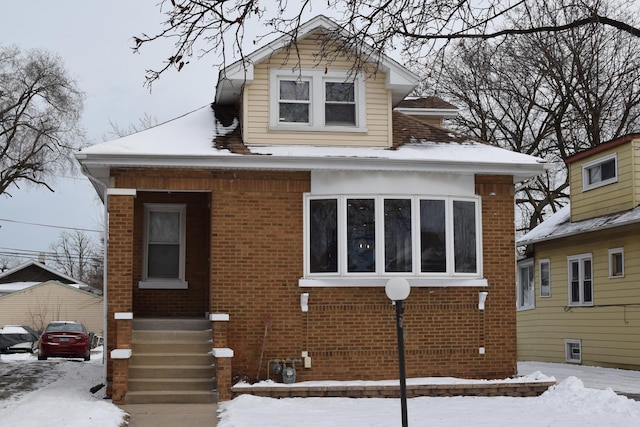
[[[179,401],[195,364],[215,366],[203,399],[283,381],[282,363],[295,381],[398,378],[394,277],[411,286],[409,377],[516,373],[514,183],[544,163],[419,119],[455,108],[394,111],[418,77],[323,60],[333,31],[318,16],[296,54],[284,37],[221,70],[212,105],[77,153],[108,210],[114,402]],[[204,344],[152,349],[178,318],[204,320]]]

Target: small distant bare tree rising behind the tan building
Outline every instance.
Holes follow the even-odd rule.
[[[68,276],[102,289],[102,245],[83,231],[63,231],[50,246],[51,259]]]

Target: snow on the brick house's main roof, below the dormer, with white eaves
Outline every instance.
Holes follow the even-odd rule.
[[[222,141],[224,138],[221,137],[234,133],[237,126],[237,118],[224,126],[216,118],[213,108],[204,106],[153,128],[85,148],[76,153],[76,157],[94,176],[100,175],[100,168],[115,165],[259,167],[277,170],[429,170],[510,174],[514,175],[514,180],[523,180],[543,171],[544,161],[540,158],[469,138],[461,139],[459,134],[442,130],[439,130],[438,134],[430,134],[430,138],[438,140],[414,137],[408,143],[394,149],[252,145],[243,146],[246,154],[241,154],[232,152],[224,143],[216,141],[216,138]]]

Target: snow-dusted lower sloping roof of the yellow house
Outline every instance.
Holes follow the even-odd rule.
[[[518,239],[516,244],[523,246],[591,231],[621,227],[637,222],[640,222],[640,206],[624,212],[571,222],[571,207],[570,204],[567,204],[549,219]]]

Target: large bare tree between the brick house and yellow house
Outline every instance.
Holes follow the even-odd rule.
[[[556,15],[550,17],[551,12]],[[569,6],[558,13],[542,5],[508,18],[516,26],[522,20],[553,24],[578,13]],[[450,50],[436,90],[463,107],[455,125],[552,165],[517,194],[523,231],[566,204],[565,158],[637,130],[638,57],[637,37],[596,24],[502,42],[466,42]]]

